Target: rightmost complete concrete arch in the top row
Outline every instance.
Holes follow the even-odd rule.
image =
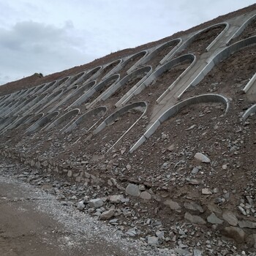
[[[201,29],[200,31],[197,31],[195,34],[192,35],[192,37],[189,37],[186,41],[184,41],[184,43],[178,48],[178,50],[176,50],[175,53],[171,54],[168,58],[168,60],[172,59],[173,56],[176,54],[176,53],[179,53],[181,52],[181,50],[184,50],[185,48],[187,48],[195,39],[197,39],[197,37],[200,37],[200,34],[203,33],[204,31],[207,31],[209,29],[214,29],[218,26],[225,26],[225,28],[222,30],[221,33],[219,33],[219,35],[217,37],[215,37],[215,39],[206,47],[206,51],[209,51],[211,50],[211,48],[215,45],[215,43],[219,40],[219,38],[221,38],[225,33],[226,31],[229,29],[230,25],[229,23],[217,23],[217,24],[214,24],[212,26],[208,26],[207,28],[205,29]]]

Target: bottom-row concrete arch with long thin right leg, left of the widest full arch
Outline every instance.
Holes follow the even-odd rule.
[[[102,131],[102,129],[107,127],[108,124],[111,124],[114,120],[116,120],[116,118],[118,118],[119,116],[122,116],[124,113],[127,113],[127,111],[129,111],[129,110],[136,109],[136,110],[139,110],[140,112],[142,112],[141,116],[131,125],[131,127],[129,127],[129,129],[127,129],[127,131],[124,132],[124,134],[121,135],[121,137],[118,138],[118,140],[116,140],[116,142],[108,149],[108,151],[110,151],[114,146],[116,146],[116,144],[122,138],[124,138],[125,135],[127,135],[127,133],[132,129],[132,127],[134,127],[135,124],[138,123],[140,118],[142,118],[145,115],[147,107],[148,107],[148,105],[146,102],[134,102],[132,104],[126,105],[123,108],[121,108],[121,109],[117,110],[116,112],[114,112],[113,114],[111,114],[110,116],[108,116],[108,118],[105,118],[105,120],[102,122],[102,124],[99,124],[99,127],[97,127],[97,129],[94,130],[93,134],[97,135],[97,133],[99,133],[100,131]]]

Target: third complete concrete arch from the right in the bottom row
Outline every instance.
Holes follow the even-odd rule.
[[[104,106],[99,108],[94,108],[93,110],[89,110],[88,112],[83,114],[83,116],[80,116],[71,125],[69,125],[69,127],[67,127],[67,129],[64,130],[64,133],[70,132],[73,129],[77,128],[80,124],[83,124],[83,122],[91,118],[91,116],[97,115],[99,113],[103,113],[102,116],[99,117],[99,120],[95,122],[91,127],[89,127],[89,129],[86,130],[86,132],[89,132],[89,130],[95,127],[95,125],[102,119],[102,117],[105,115],[106,112],[107,112],[107,108]]]

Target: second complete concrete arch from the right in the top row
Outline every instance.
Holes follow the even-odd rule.
[[[150,61],[151,59],[153,59],[154,56],[157,56],[157,54],[158,54],[159,52],[161,52],[162,50],[164,50],[165,48],[170,47],[170,46],[172,46],[172,45],[175,45],[175,47],[174,47],[172,50],[170,50],[170,52],[167,53],[167,55],[166,55],[162,60],[159,61],[159,64],[164,63],[165,61],[167,61],[167,59],[169,59],[170,56],[173,55],[173,53],[176,52],[176,50],[181,46],[181,43],[182,43],[182,39],[181,39],[181,38],[177,38],[177,39],[172,39],[172,40],[170,40],[170,41],[168,41],[168,42],[163,43],[162,45],[157,46],[157,48],[155,48],[151,53],[149,53],[145,58],[143,58],[143,59],[138,63],[138,65],[146,64],[146,62],[148,62],[148,61]],[[158,66],[158,65],[157,65],[157,66]],[[132,67],[132,70],[134,70],[136,67],[138,67],[138,66],[135,66],[135,65],[134,65],[134,66]],[[130,69],[129,69],[129,70],[130,70]]]

